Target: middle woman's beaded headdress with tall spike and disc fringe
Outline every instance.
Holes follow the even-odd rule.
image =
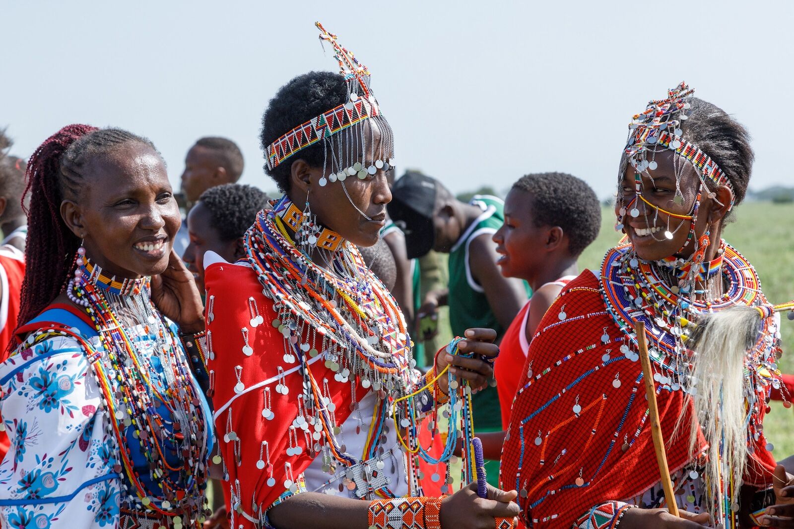
[[[388,171],[394,166],[393,138],[370,89],[369,70],[337,42],[336,35],[328,33],[319,22],[315,25],[321,32],[320,40],[333,47],[339,73],[347,83],[345,102],[298,125],[269,144],[265,148],[268,169],[273,170],[295,153],[322,141],[326,146],[326,156],[321,186],[328,181],[344,182],[345,178],[353,175],[364,179],[379,169]],[[366,121],[371,121],[374,126],[365,133],[361,125]],[[377,148],[374,128],[380,132]]]

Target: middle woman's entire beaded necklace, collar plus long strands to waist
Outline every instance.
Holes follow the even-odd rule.
[[[295,247],[281,222],[284,211],[290,211],[288,217],[292,218],[296,210],[291,201],[283,197],[272,210],[259,213],[244,241],[247,259],[263,286],[263,294],[274,301],[277,317],[272,325],[284,336],[285,360],[297,360],[303,364],[304,387],[308,389],[305,412],[314,415],[312,424],[322,429],[327,440],[325,446],[314,444],[314,452],[322,452],[322,468],[326,472],[334,472],[334,460],[348,468],[366,465],[379,451],[384,454],[380,448],[380,443],[386,439],[382,434],[384,421],[392,415],[395,424],[405,430],[406,439],[399,431],[398,439],[409,456],[410,489],[421,491],[419,481],[422,473],[418,470],[418,458],[431,464],[447,462],[455,457],[453,449],[459,437],[458,430],[463,430],[464,439],[473,436],[471,389],[465,381],[457,381],[449,372],[434,375],[435,378],[427,385],[418,387],[418,377],[413,369],[415,362],[410,357],[410,338],[391,293],[368,270],[355,247],[347,242],[341,243],[338,251],[330,253],[327,269],[313,263],[308,255]],[[300,218],[290,224],[295,222],[299,224]],[[330,236],[335,237],[333,233]],[[320,354],[310,346],[316,343],[318,336],[322,340],[320,351],[326,359],[326,366],[337,373],[337,381],[347,382],[358,376],[364,389],[372,388],[378,393],[379,400],[373,410],[372,427],[364,442],[361,463],[346,454],[344,444],[337,440],[340,429],[333,419],[333,408],[328,405],[328,391],[318,384],[306,362],[306,353],[310,357]],[[457,340],[450,344],[448,351],[453,355],[460,354]],[[434,388],[433,400],[441,401],[441,397],[435,395],[435,381],[441,376],[449,379],[451,400],[449,412],[446,412],[449,432],[443,454],[433,458],[418,444],[418,408],[428,404],[429,398],[423,392],[430,387]],[[352,383],[355,388],[355,382]],[[327,386],[327,381],[323,386]],[[417,397],[424,400],[419,403],[415,401]],[[431,418],[432,427],[438,424],[436,414],[437,410]],[[303,412],[299,410],[296,421],[300,421],[302,416]],[[476,467],[472,445],[466,443],[466,446],[462,478],[468,483],[472,481]],[[372,464],[383,468],[380,460]],[[447,483],[451,484],[449,468],[447,474]],[[342,480],[340,487],[357,489],[355,479],[348,477],[346,481]],[[371,487],[370,493],[391,495],[385,487]]]

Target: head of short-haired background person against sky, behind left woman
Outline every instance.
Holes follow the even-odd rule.
[[[233,184],[243,174],[243,155],[232,140],[206,136],[187,151],[182,173],[182,190],[191,204],[204,191],[222,184]]]

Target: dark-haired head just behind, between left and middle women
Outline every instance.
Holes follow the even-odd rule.
[[[243,236],[268,207],[268,195],[254,186],[222,184],[204,191],[187,214],[190,243],[182,259],[204,292],[204,254],[214,251],[229,263],[245,256]]]

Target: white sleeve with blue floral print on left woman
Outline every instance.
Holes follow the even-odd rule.
[[[29,338],[0,364],[11,442],[0,464],[0,525],[117,527],[114,439],[86,351],[71,336],[43,338]]]

